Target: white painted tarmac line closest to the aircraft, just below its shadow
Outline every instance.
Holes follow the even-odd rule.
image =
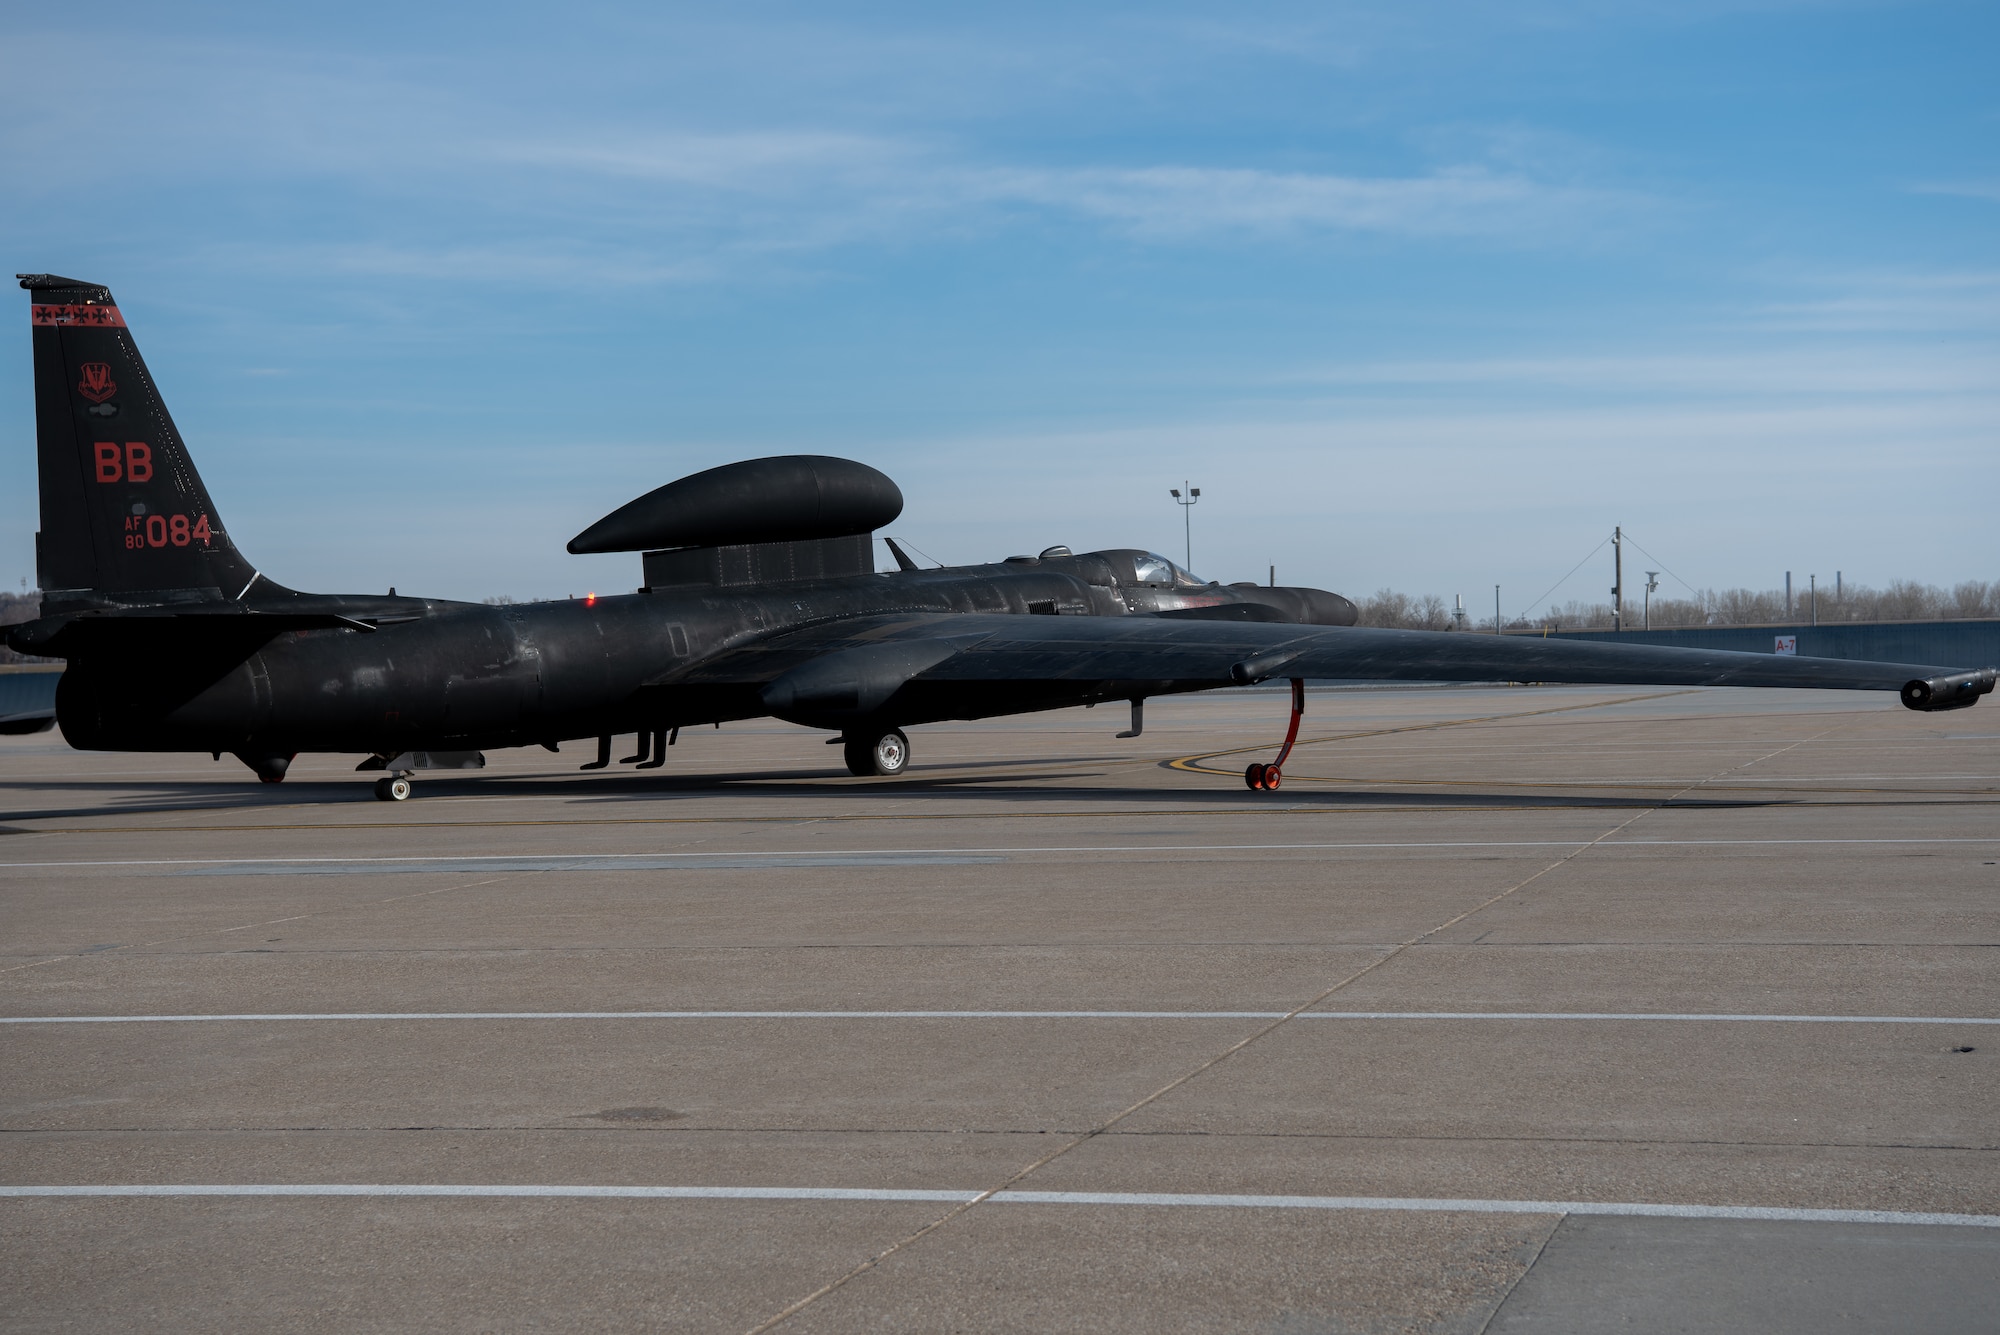
[[[1590,843],[1578,839],[1426,839],[1426,841],[1378,841],[1378,843],[1078,843],[1078,845],[1034,845],[1034,847],[826,847],[826,849],[750,849],[740,853],[464,853],[464,855],[412,855],[412,857],[124,857],[90,861],[0,861],[0,871],[28,871],[52,867],[310,867],[310,865],[424,865],[424,863],[626,863],[626,861],[758,861],[758,859],[800,859],[800,857],[958,857],[958,855],[1010,855],[1010,853],[1284,853],[1284,851],[1342,851],[1378,847],[1572,847]],[[1830,847],[1830,845],[1904,845],[1904,843],[2000,843],[1994,837],[1950,837],[1950,839],[1602,839],[1596,847]]]

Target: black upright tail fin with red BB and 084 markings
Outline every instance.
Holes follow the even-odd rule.
[[[44,600],[242,598],[256,568],[222,530],[110,290],[16,278],[34,302]]]

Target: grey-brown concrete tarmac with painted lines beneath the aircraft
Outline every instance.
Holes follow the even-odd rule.
[[[1284,707],[0,737],[0,1329],[2000,1329],[2000,705]]]

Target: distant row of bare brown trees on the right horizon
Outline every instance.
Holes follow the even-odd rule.
[[[1470,608],[1466,618],[1454,616],[1436,594],[1412,598],[1396,590],[1378,590],[1360,600],[1362,626],[1390,626],[1400,630],[1484,630],[1492,632],[1494,620],[1480,618]],[[1692,598],[1654,596],[1650,616],[1644,594],[1626,596],[1626,630],[1650,624],[1654,630],[1676,626],[1792,626],[1818,620],[1826,622],[1964,622],[1974,618],[2000,618],[2000,580],[1966,580],[1950,590],[1914,580],[1896,580],[1888,588],[1874,590],[1866,584],[1846,584],[1840,596],[1820,588],[1792,590],[1792,606],[1786,608],[1784,590],[1702,590]],[[1508,618],[1506,630],[1610,630],[1612,606],[1566,602],[1560,608],[1550,604],[1534,618]]]

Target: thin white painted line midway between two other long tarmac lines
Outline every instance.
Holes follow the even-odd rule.
[[[0,1025],[292,1023],[388,1019],[1284,1019],[1292,1011],[272,1011],[240,1015],[0,1015]],[[1296,1019],[1646,1019],[1778,1025],[2000,1025],[1986,1015],[1750,1015],[1708,1011],[1300,1011]]]

